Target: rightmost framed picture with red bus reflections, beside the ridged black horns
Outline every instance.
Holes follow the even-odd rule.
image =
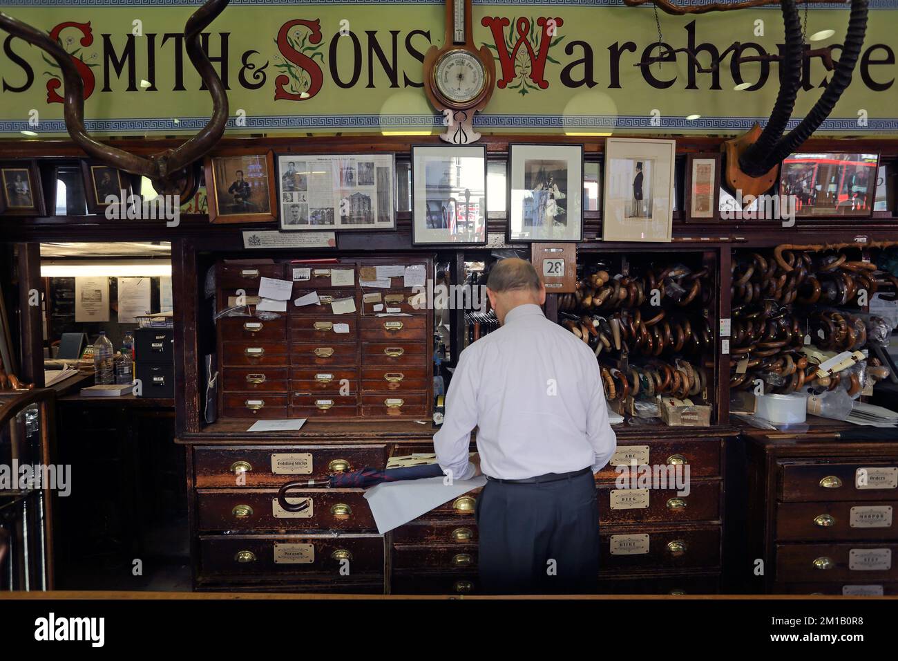
[[[869,218],[878,166],[878,154],[792,154],[779,168],[779,194],[795,195],[798,218]]]

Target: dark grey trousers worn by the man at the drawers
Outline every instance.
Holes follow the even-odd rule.
[[[486,594],[592,594],[599,510],[591,472],[536,484],[489,480],[477,499]]]

